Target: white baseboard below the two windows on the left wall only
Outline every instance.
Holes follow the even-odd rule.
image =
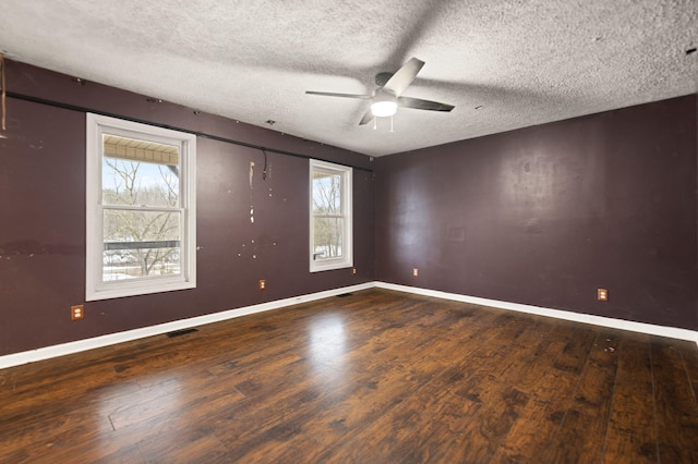
[[[174,320],[172,322],[159,323],[157,326],[144,327],[125,332],[109,333],[107,335],[95,337],[92,339],[77,340],[75,342],[61,343],[58,345],[40,347],[22,353],[9,354],[5,356],[0,356],[0,369],[27,363],[34,363],[36,361],[49,359],[51,357],[63,356],[67,354],[79,353],[82,351],[94,350],[97,347],[109,346],[117,343],[130,342],[132,340],[144,339],[146,337],[159,335],[176,330],[189,329],[191,327],[204,326],[206,323],[219,322],[221,320],[233,319],[236,317],[246,316],[250,314],[278,309],[299,303],[306,303],[315,300],[326,298],[329,296],[340,295],[342,293],[373,289],[374,286],[374,282],[342,286],[341,289],[326,290],[323,292],[311,293],[309,295],[293,296],[290,298],[261,303],[258,305],[229,309],[221,313],[214,313],[207,314],[205,316],[192,317],[189,319]]]

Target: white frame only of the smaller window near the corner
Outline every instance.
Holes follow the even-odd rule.
[[[315,227],[313,215],[313,172],[326,172],[341,176],[341,217],[342,229],[342,256],[338,258],[315,259],[313,256],[315,243]],[[310,213],[310,271],[320,272],[330,269],[350,268],[353,266],[353,206],[352,206],[352,169],[341,164],[335,164],[316,159],[310,160],[309,171],[309,213]]]

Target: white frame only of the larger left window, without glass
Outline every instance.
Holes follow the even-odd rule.
[[[196,288],[196,136],[148,124],[87,113],[86,115],[86,279],[85,300],[97,301]],[[116,135],[179,147],[179,276],[104,281],[101,166],[104,135]]]

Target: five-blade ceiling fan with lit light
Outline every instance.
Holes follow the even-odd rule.
[[[376,89],[372,95],[358,94],[336,94],[333,91],[312,91],[305,94],[320,95],[324,97],[358,98],[371,100],[371,108],[361,118],[359,125],[366,124],[373,118],[392,117],[397,111],[397,107],[413,108],[429,111],[450,111],[453,105],[440,103],[438,101],[422,100],[421,98],[402,97],[402,93],[414,81],[424,62],[417,58],[411,58],[395,73],[378,73],[375,75]]]

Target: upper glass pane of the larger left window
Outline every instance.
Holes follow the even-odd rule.
[[[104,157],[104,205],[179,206],[176,166]]]

